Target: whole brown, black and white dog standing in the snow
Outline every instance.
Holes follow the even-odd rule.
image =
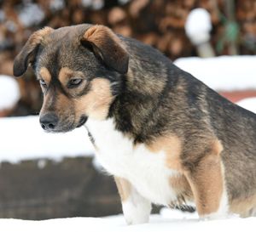
[[[195,202],[200,218],[256,209],[256,116],[148,45],[104,25],[35,31],[15,58],[40,82],[46,132],[85,126],[127,224],[151,204]]]

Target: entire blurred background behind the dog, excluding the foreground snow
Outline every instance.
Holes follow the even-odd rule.
[[[33,31],[81,23],[108,25],[148,43],[256,110],[255,0],[0,0],[0,218],[121,212],[113,178],[102,174],[85,129],[44,133],[35,76],[28,70],[13,77],[15,55]]]

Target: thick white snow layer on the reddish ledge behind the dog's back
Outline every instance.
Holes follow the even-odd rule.
[[[176,59],[174,64],[215,90],[256,89],[256,55],[189,57]]]

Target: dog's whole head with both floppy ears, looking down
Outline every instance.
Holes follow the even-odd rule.
[[[119,37],[103,25],[36,31],[15,58],[14,74],[32,65],[44,93],[40,123],[49,132],[80,127],[88,117],[105,119],[129,56]]]

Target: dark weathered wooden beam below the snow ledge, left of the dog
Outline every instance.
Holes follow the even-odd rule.
[[[113,178],[96,171],[91,157],[2,162],[0,181],[1,218],[42,220],[121,213]]]

